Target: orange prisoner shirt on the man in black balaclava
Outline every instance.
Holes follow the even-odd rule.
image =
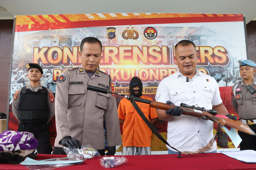
[[[152,100],[147,96],[140,98]],[[148,120],[157,117],[156,109],[149,104],[136,102]],[[124,120],[123,146],[124,147],[150,147],[152,131],[142,120],[138,112],[132,106],[130,100],[122,99],[118,106],[118,117]]]

